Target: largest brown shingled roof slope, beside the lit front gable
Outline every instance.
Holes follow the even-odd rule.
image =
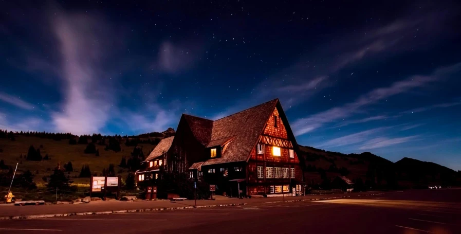
[[[211,142],[234,137],[221,157],[208,159],[203,165],[246,161],[277,103],[279,99],[274,99],[213,121]]]

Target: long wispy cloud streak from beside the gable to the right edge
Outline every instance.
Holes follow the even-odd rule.
[[[375,88],[357,98],[354,102],[346,103],[342,106],[333,107],[327,111],[311,115],[306,118],[298,119],[293,123],[296,135],[308,133],[314,129],[322,127],[325,123],[333,122],[338,119],[350,117],[357,113],[362,107],[375,104],[385,98],[410,91],[411,89],[423,87],[444,79],[445,76],[456,73],[461,68],[461,63],[449,67],[442,67],[435,70],[428,76],[412,76],[408,79],[392,83],[388,87]]]

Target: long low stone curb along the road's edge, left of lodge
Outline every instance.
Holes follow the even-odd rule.
[[[197,206],[197,208],[239,206],[239,205],[247,205],[247,203],[207,205],[207,206]],[[112,211],[94,211],[94,212],[90,211],[90,212],[60,213],[60,214],[32,214],[32,215],[4,216],[4,217],[0,217],[0,220],[44,219],[44,218],[53,218],[53,217],[75,216],[75,215],[150,212],[150,211],[160,211],[160,210],[182,210],[182,209],[191,209],[191,208],[194,208],[194,207],[193,206],[182,206],[182,207],[161,207],[161,208],[146,208],[146,209],[133,209],[133,210],[112,210]]]

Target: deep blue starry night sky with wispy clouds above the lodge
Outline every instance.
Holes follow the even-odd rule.
[[[2,1],[0,129],[131,135],[279,98],[301,145],[461,170],[456,1]]]

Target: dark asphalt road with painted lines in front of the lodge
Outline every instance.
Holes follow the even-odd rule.
[[[461,233],[461,189],[0,221],[0,233]]]

